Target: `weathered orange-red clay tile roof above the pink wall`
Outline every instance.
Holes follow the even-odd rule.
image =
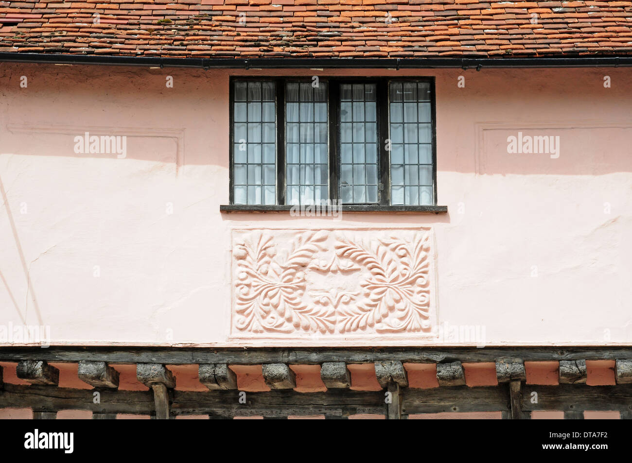
[[[0,52],[210,58],[632,54],[632,1],[0,1]]]

